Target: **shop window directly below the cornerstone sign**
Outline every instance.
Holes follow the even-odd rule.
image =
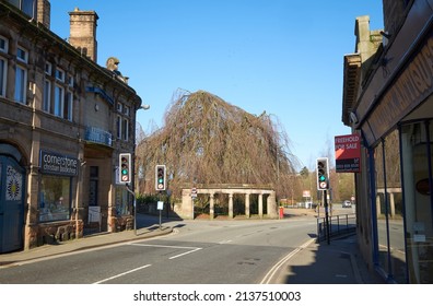
[[[43,175],[39,193],[39,222],[69,220],[71,178]]]

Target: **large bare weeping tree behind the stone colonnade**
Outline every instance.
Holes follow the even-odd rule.
[[[137,146],[139,168],[152,192],[154,167],[167,168],[169,190],[200,185],[271,185],[290,195],[295,156],[280,123],[255,116],[208,92],[178,92],[165,125]],[[142,189],[140,189],[142,190]]]

